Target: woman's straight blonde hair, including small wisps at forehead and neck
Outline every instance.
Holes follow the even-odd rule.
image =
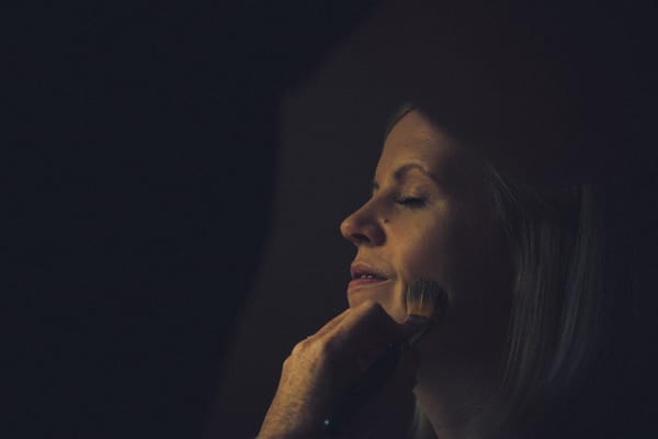
[[[413,109],[402,105],[386,133]],[[606,361],[617,340],[613,329],[629,317],[629,262],[610,239],[605,193],[589,183],[540,190],[484,166],[515,281],[500,386],[504,404],[483,416],[495,437],[506,438],[548,434],[558,419],[568,419],[558,427],[565,430],[595,423],[598,407],[580,412],[580,420],[560,407],[587,399],[614,376],[616,364]],[[410,437],[426,437],[427,427],[417,406]]]

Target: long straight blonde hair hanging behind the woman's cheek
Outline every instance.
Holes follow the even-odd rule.
[[[553,416],[601,353],[612,311],[603,234],[589,184],[540,192],[490,168],[497,214],[515,263],[503,392],[506,429]],[[512,427],[515,425],[515,427]]]

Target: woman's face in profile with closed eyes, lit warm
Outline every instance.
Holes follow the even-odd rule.
[[[431,279],[447,293],[449,307],[422,346],[433,338],[434,347],[481,351],[504,338],[511,263],[486,170],[422,113],[408,113],[392,130],[372,196],[341,233],[358,248],[351,307],[372,300],[402,322],[407,285]]]

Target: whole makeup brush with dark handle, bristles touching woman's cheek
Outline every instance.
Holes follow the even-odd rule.
[[[393,374],[402,352],[418,342],[447,307],[445,291],[434,281],[417,280],[409,285],[405,295],[407,318],[404,324],[418,326],[418,330],[407,340],[389,345],[361,380],[348,390],[337,409],[322,420],[322,429],[330,436],[339,435],[351,417],[379,392]]]

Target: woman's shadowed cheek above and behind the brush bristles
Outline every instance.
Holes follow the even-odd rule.
[[[498,346],[507,334],[512,277],[507,250],[491,246],[494,233],[485,227],[428,227],[409,236],[400,248],[406,282],[430,278],[446,290],[443,341],[460,349]]]

